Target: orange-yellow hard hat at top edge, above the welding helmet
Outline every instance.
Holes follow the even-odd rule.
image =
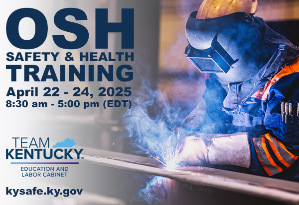
[[[216,18],[236,12],[250,15],[257,10],[258,0],[203,0],[196,18]]]

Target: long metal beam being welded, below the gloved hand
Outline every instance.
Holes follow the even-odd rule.
[[[250,199],[254,199],[257,204],[262,202],[271,205],[299,204],[298,182],[202,166],[179,166],[166,170],[153,158],[87,147],[80,148],[84,148],[81,154],[84,157],[82,163],[86,161],[133,173],[165,177],[171,184],[165,189],[166,205],[179,205],[182,204],[182,200],[185,201],[184,204],[195,204],[194,202],[198,204],[199,195],[199,200],[213,201],[212,204],[243,204],[243,202],[246,205],[256,204],[249,203]],[[234,201],[238,197],[241,199]]]

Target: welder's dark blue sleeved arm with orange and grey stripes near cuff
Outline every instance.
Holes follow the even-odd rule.
[[[258,174],[272,176],[287,170],[299,156],[299,124],[282,122],[281,101],[299,102],[299,73],[287,75],[270,89],[268,99],[263,103],[264,126],[268,133],[249,137],[252,152],[250,169]],[[297,111],[297,109],[295,109]]]

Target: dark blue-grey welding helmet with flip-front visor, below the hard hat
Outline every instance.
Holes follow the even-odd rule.
[[[258,49],[265,29],[264,22],[256,20],[244,12],[229,15],[198,19],[197,11],[190,14],[186,24],[186,37],[189,45],[185,49],[186,57],[201,72],[232,73],[243,80],[252,69],[234,70],[246,67],[255,61],[255,50]],[[241,66],[240,66],[241,65]],[[246,72],[248,71],[248,72]]]

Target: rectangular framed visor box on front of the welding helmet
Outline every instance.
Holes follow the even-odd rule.
[[[210,48],[198,50],[189,44],[185,49],[185,55],[200,72],[209,73],[227,73],[233,68],[232,65],[239,60],[233,60],[219,44],[217,34]]]

